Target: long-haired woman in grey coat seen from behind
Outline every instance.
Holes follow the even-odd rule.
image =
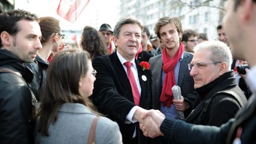
[[[81,49],[58,52],[49,65],[36,126],[35,143],[87,143],[98,117],[95,143],[121,143],[116,122],[100,117],[89,100],[96,71]]]

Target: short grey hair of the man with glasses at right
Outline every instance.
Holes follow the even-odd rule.
[[[209,50],[212,52],[210,59],[213,62],[226,62],[228,63],[228,71],[231,71],[232,53],[229,47],[222,41],[211,40],[204,43],[199,43],[194,48],[194,52],[201,52]]]

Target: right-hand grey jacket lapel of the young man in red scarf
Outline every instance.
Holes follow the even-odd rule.
[[[181,60],[180,71],[179,71],[179,75],[178,75],[178,85],[180,87],[183,83],[185,73],[188,71],[187,65],[188,65],[189,61],[190,60],[188,59],[188,53],[184,52],[183,60]]]

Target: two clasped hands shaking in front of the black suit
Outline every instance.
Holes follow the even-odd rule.
[[[165,115],[162,114],[159,110],[145,110],[141,108],[142,113],[138,119],[140,129],[143,132],[143,135],[149,137],[164,136],[160,131],[160,126],[162,121],[165,119]]]

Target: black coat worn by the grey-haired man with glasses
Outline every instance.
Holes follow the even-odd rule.
[[[236,78],[233,71],[226,72],[214,81],[206,84],[196,91],[199,94],[195,101],[196,107],[185,120],[187,123],[203,124],[209,126],[220,126],[229,119],[235,117],[238,110],[241,110],[239,100],[230,94],[219,91],[233,91],[241,98],[241,103],[245,104],[247,98],[241,89],[236,85]]]

